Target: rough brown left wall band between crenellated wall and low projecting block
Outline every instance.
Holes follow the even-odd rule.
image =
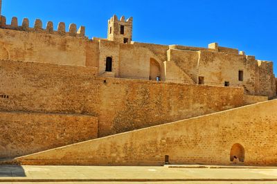
[[[0,60],[0,110],[96,115],[97,68]]]

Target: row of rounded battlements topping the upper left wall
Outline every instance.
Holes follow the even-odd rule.
[[[21,31],[27,31],[27,32],[68,35],[71,37],[85,37],[84,26],[80,26],[80,28],[77,30],[76,24],[70,24],[69,32],[66,32],[66,25],[64,24],[64,22],[60,22],[57,26],[57,30],[54,30],[53,22],[48,21],[46,25],[46,29],[44,29],[42,28],[42,21],[40,19],[35,19],[35,24],[33,28],[30,28],[30,21],[27,18],[24,18],[21,26],[19,26],[17,17],[12,17],[11,24],[9,25],[9,24],[6,24],[6,17],[1,16],[0,28],[10,29],[10,30],[21,30]]]

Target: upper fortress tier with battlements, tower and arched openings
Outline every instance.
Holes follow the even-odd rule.
[[[124,34],[120,34],[120,26],[124,27]],[[90,40],[84,36],[84,27],[77,32],[75,24],[69,26],[69,33],[65,32],[64,23],[53,31],[53,23],[48,22],[46,30],[42,30],[39,19],[34,28],[29,28],[28,19],[18,26],[17,18],[13,17],[12,23],[6,25],[6,18],[2,16],[1,28],[1,35],[5,35],[0,40],[1,59],[95,66],[102,77],[143,80],[159,77],[165,82],[242,86],[248,95],[269,98],[276,95],[271,62],[216,43],[208,48],[129,41],[124,44],[124,38],[132,40],[132,18],[125,21],[124,17],[120,20],[112,17],[108,39]],[[108,57],[112,60],[111,71],[106,71]]]

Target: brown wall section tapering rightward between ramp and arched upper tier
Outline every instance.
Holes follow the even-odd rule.
[[[242,88],[145,80],[106,79],[98,94],[100,137],[243,105]]]

